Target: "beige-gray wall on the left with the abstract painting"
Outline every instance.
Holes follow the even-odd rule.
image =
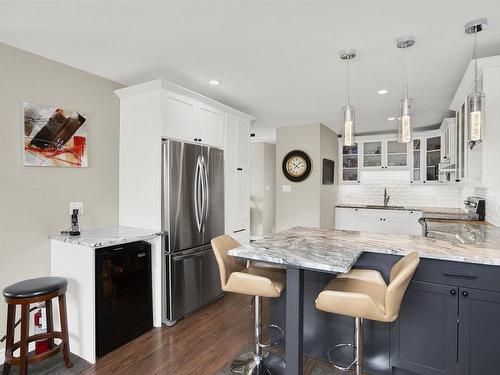
[[[0,44],[0,289],[50,274],[50,233],[82,201],[84,229],[118,223],[119,101],[109,80]],[[88,168],[23,167],[23,101],[88,116]],[[0,302],[0,336],[7,306]],[[4,346],[0,346],[0,356]]]

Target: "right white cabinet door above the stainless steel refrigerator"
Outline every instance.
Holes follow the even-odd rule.
[[[224,112],[216,108],[200,104],[197,111],[197,142],[223,147]]]

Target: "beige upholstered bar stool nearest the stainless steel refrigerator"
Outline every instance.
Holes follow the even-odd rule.
[[[212,240],[215,258],[219,265],[222,290],[225,292],[246,294],[254,297],[255,302],[255,351],[233,361],[231,367],[243,369],[244,374],[274,374],[282,373],[284,361],[274,353],[263,355],[263,348],[274,344],[262,343],[262,304],[261,297],[279,297],[285,288],[285,271],[272,267],[256,267],[250,264],[239,263],[234,257],[227,254],[231,249],[241,246],[234,238],[223,235]],[[283,331],[276,325],[270,328]],[[244,356],[245,357],[245,356]],[[275,368],[276,370],[273,370]]]

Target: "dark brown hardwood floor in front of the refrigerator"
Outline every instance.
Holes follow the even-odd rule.
[[[215,375],[252,344],[250,301],[248,296],[228,293],[173,327],[152,329],[82,374]],[[304,374],[311,374],[317,363],[306,358]]]

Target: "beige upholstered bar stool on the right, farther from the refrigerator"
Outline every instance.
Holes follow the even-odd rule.
[[[355,318],[355,343],[339,344],[328,350],[328,359],[336,368],[347,371],[356,366],[356,374],[363,374],[363,320],[393,322],[397,319],[401,301],[420,258],[412,252],[400,259],[391,269],[387,285],[375,270],[352,269],[330,281],[316,299],[316,308],[326,312]],[[334,363],[333,350],[352,346],[356,350],[354,361],[347,367]]]

